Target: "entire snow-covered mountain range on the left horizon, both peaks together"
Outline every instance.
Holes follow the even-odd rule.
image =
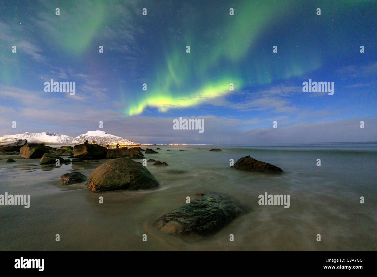
[[[88,131],[86,134],[72,138],[70,136],[61,135],[60,133],[23,133],[17,135],[3,135],[0,136],[0,142],[16,141],[17,139],[27,139],[28,142],[37,143],[61,143],[61,144],[81,144],[86,140],[88,142],[95,142],[98,144],[119,143],[119,144],[136,144],[128,139],[121,138],[120,136],[110,135],[104,131]]]

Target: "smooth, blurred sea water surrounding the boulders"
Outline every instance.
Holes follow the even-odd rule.
[[[0,250],[377,249],[377,142],[147,148],[161,148],[159,154],[144,154],[147,159],[169,164],[148,163],[160,183],[156,190],[93,193],[85,182],[64,186],[59,180],[72,170],[89,177],[106,160],[46,170],[38,159],[6,163],[18,157],[2,156],[0,194],[30,194],[31,203],[30,208],[0,206]],[[222,152],[209,152],[211,148]],[[230,168],[230,159],[236,162],[244,156],[276,165],[284,174]],[[163,214],[184,205],[187,196],[194,200],[196,193],[205,192],[229,194],[251,211],[217,233],[196,239],[162,234],[152,226]],[[265,192],[289,194],[290,207],[259,205],[258,196]],[[99,204],[100,196],[104,204]],[[361,196],[365,204],[360,204]]]

